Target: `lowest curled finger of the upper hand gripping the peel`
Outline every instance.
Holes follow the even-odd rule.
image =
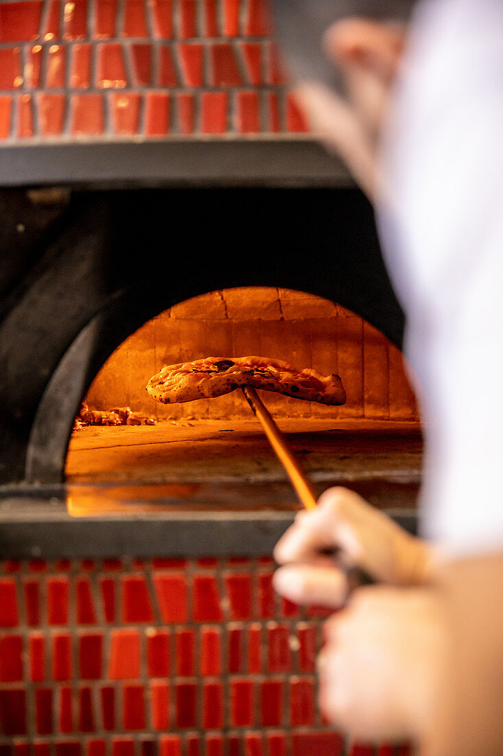
[[[285,565],[273,576],[273,586],[297,604],[317,604],[338,609],[347,598],[347,580],[335,566]]]

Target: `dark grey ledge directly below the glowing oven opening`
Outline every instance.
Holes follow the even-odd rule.
[[[415,532],[412,508],[384,512]],[[45,489],[43,496],[18,491],[0,499],[0,559],[264,556],[294,516],[293,508],[135,512],[131,507],[131,513],[73,517],[60,491]]]

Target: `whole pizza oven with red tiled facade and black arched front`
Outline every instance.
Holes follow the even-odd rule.
[[[298,503],[239,392],[163,364],[338,372],[264,401],[316,491],[414,528],[421,427],[372,209],[313,141],[261,0],[0,0],[0,756],[371,756],[316,705],[326,609],[271,587]],[[79,427],[130,407],[153,424]]]

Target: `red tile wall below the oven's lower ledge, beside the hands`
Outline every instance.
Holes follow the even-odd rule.
[[[326,610],[261,559],[0,563],[0,756],[406,756],[316,705]],[[295,611],[294,611],[295,610]]]

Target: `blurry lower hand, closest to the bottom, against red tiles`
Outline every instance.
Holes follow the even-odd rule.
[[[325,625],[323,714],[360,739],[425,745],[438,704],[444,624],[434,590],[363,587]]]

